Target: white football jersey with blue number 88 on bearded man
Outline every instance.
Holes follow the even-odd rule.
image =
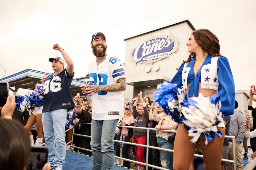
[[[126,78],[124,64],[116,57],[106,56],[105,60],[97,65],[94,60],[89,65],[89,77],[94,78],[96,85],[113,85],[120,78]],[[113,120],[123,117],[123,91],[99,92],[92,95],[92,119]]]

